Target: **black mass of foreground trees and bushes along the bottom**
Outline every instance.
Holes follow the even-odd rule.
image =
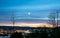
[[[60,27],[56,28],[39,28],[29,30],[31,33],[15,32],[10,35],[10,38],[60,38]]]

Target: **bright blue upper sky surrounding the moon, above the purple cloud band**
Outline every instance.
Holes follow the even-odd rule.
[[[53,9],[60,9],[60,0],[0,0],[0,20],[10,20],[13,12],[16,19],[48,19]]]

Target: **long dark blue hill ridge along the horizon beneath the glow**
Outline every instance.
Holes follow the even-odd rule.
[[[54,29],[57,29],[57,28],[59,28],[60,29],[60,27],[55,27]],[[35,28],[35,27],[19,27],[19,26],[14,26],[14,27],[12,27],[12,26],[0,26],[0,29],[4,29],[4,30],[34,30],[34,29],[37,29],[37,30],[39,30],[39,29],[53,29],[53,28],[46,28],[46,27],[39,27],[39,28]]]

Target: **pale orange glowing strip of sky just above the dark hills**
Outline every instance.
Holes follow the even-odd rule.
[[[13,26],[12,23],[0,23],[0,26]],[[14,26],[22,26],[22,27],[54,27],[48,23],[15,23]]]

